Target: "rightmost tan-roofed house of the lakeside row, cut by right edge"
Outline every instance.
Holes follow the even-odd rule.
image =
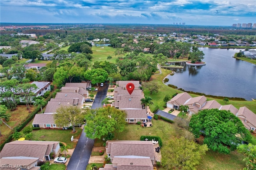
[[[247,107],[240,107],[236,113],[236,117],[242,121],[248,130],[256,131],[256,114]]]

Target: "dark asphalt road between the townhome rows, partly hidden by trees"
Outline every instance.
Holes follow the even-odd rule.
[[[101,102],[108,93],[108,84],[98,88],[98,93],[94,99],[91,109],[102,107]],[[92,154],[94,140],[87,138],[84,130],[76,144],[76,148],[68,162],[67,170],[85,170]]]

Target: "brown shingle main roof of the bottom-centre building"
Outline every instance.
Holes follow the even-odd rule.
[[[142,140],[108,140],[106,152],[114,156],[148,156],[154,159],[154,146],[151,141]]]

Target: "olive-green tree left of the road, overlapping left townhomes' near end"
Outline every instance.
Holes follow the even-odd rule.
[[[71,124],[73,132],[76,132],[75,125],[83,122],[84,112],[76,106],[62,106],[56,110],[54,120],[56,124]]]

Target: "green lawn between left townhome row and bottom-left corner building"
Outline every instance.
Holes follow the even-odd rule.
[[[72,130],[40,129],[32,131],[33,136],[31,140],[60,141],[66,143],[72,149],[75,148],[77,142],[71,142],[71,136],[79,138],[81,133],[81,128],[76,128],[75,133]]]

